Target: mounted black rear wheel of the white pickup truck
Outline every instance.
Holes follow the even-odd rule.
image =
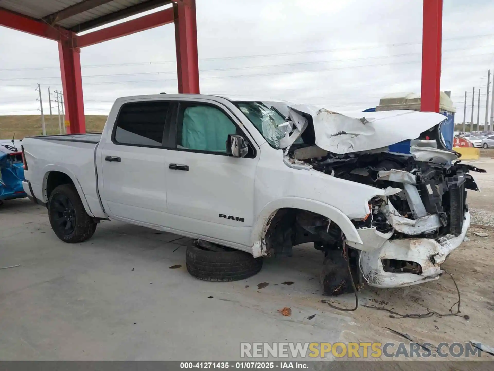
[[[62,241],[82,242],[96,231],[96,222],[84,210],[74,185],[64,184],[53,189],[47,206],[51,229]]]

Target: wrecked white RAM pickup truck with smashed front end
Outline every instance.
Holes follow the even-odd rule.
[[[434,112],[342,115],[282,101],[203,94],[116,100],[101,134],[27,137],[30,198],[66,242],[101,220],[197,238],[188,271],[257,273],[263,256],[313,242],[321,282],[398,287],[437,279],[469,226],[470,170]],[[407,139],[411,153],[387,146]],[[350,274],[351,272],[351,274]]]

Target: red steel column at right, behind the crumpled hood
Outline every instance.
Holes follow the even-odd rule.
[[[423,0],[421,111],[439,112],[443,0]]]

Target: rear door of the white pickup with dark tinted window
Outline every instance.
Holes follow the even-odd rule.
[[[101,198],[110,216],[166,224],[163,139],[169,107],[163,100],[122,105],[111,140],[102,143],[101,152]]]

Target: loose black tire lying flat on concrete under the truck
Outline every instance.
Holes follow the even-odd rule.
[[[191,276],[206,281],[229,282],[249,278],[262,268],[262,258],[255,258],[244,251],[225,248],[211,251],[198,246],[188,246],[185,265]]]

